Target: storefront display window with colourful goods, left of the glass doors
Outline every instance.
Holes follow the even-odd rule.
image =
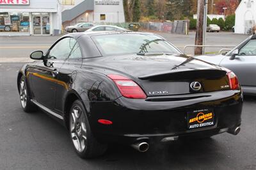
[[[0,13],[0,31],[29,32],[29,13],[3,12]]]

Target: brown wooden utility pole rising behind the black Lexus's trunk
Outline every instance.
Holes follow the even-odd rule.
[[[196,40],[195,45],[203,45],[203,31],[204,31],[204,4],[205,0],[197,1],[197,22],[196,22]],[[201,55],[202,47],[195,47],[195,55]]]

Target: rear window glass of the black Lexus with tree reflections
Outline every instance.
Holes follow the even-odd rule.
[[[108,34],[92,36],[102,55],[129,53],[180,53],[159,36],[149,34]]]

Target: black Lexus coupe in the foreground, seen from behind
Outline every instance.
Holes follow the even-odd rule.
[[[67,34],[20,69],[25,112],[44,110],[68,128],[83,158],[108,143],[149,145],[238,134],[243,94],[232,71],[187,57],[161,36]]]

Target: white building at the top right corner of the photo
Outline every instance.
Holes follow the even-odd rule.
[[[236,10],[236,34],[246,34],[256,24],[256,0],[242,0]]]

